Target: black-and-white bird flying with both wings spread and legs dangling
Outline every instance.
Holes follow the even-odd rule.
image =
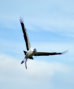
[[[27,49],[27,51],[23,51],[25,54],[25,58],[24,58],[24,60],[21,61],[21,64],[25,63],[26,69],[27,69],[27,59],[33,60],[33,56],[51,56],[51,55],[61,55],[61,54],[65,53],[65,52],[38,52],[36,50],[36,48],[32,49],[29,38],[28,38],[27,31],[26,31],[26,28],[24,26],[22,19],[20,19],[20,24],[22,27],[23,36],[24,36],[24,40],[26,43],[26,49]]]

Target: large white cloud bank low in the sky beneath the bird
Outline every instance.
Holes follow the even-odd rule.
[[[6,89],[9,89],[10,86],[14,89],[15,87],[18,89],[20,87],[32,89],[45,89],[47,87],[47,89],[51,89],[52,78],[56,72],[67,74],[70,71],[70,68],[64,64],[34,60],[28,61],[28,69],[26,70],[20,61],[8,55],[0,55],[0,83],[5,83]],[[5,89],[5,87],[0,87]]]

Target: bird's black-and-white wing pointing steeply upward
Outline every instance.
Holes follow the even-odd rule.
[[[23,31],[23,35],[24,35],[24,40],[25,40],[25,43],[26,43],[26,48],[27,48],[27,50],[29,50],[31,46],[30,46],[29,38],[28,38],[28,35],[27,35],[27,32],[26,32],[26,28],[24,26],[22,19],[20,19],[20,23],[21,23],[21,27],[22,27],[22,31]]]

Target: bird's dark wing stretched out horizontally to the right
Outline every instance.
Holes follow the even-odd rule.
[[[66,52],[66,51],[65,51]],[[34,56],[52,56],[52,55],[62,55],[65,52],[35,52]]]

